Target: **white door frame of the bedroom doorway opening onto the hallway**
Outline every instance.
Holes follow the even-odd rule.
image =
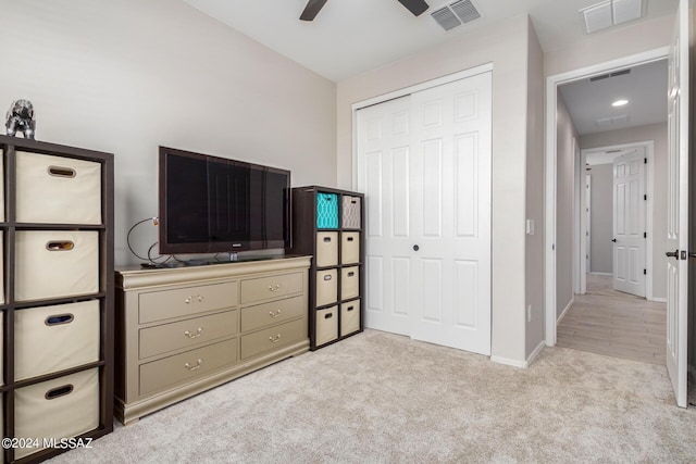
[[[547,76],[546,78],[546,160],[545,160],[545,214],[544,214],[544,262],[545,262],[545,342],[547,347],[556,346],[556,139],[558,105],[558,86],[573,80],[618,71],[622,67],[664,60],[669,55],[669,47],[618,58],[604,63],[593,64],[573,71]]]

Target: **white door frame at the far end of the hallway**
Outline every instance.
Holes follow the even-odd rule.
[[[664,299],[656,300],[652,297],[652,275],[654,275],[654,265],[652,265],[652,246],[654,246],[654,237],[652,237],[652,214],[654,214],[654,201],[655,201],[655,141],[654,140],[645,140],[645,141],[636,141],[630,143],[619,143],[611,145],[605,147],[596,147],[596,148],[587,148],[581,150],[581,165],[585,165],[585,161],[588,154],[598,151],[608,151],[608,150],[630,150],[632,148],[644,147],[645,148],[645,158],[648,159],[648,163],[645,170],[645,195],[648,196],[648,199],[645,204],[645,231],[647,233],[647,237],[645,240],[645,269],[646,269],[646,278],[645,278],[645,299],[648,301],[664,301]],[[580,210],[583,211],[584,208],[587,208],[585,198],[581,199]],[[580,224],[580,234],[582,237],[585,237],[585,234],[588,231],[587,228],[587,220],[581,215],[581,224]],[[574,267],[580,268],[581,275],[585,275],[587,272],[586,263],[584,260],[581,260],[580,263],[574,263]],[[612,269],[613,273],[613,269]],[[584,279],[583,279],[584,280]],[[587,290],[586,283],[581,288],[581,293],[585,293]]]

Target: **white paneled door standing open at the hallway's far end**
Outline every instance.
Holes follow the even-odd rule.
[[[613,161],[613,288],[645,297],[645,147]]]

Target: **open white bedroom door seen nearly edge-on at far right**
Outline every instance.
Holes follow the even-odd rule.
[[[688,335],[688,0],[680,0],[669,57],[667,371],[686,407]]]

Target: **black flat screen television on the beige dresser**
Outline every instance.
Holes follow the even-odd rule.
[[[290,172],[160,147],[162,254],[290,247]]]

